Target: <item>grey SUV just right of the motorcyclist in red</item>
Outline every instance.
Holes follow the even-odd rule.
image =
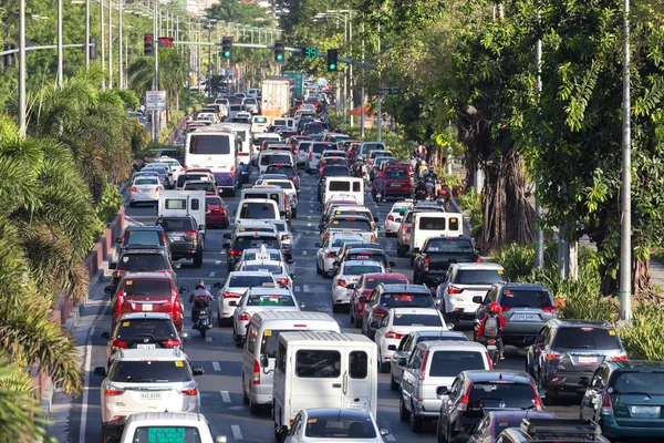
[[[497,301],[502,308],[507,324],[502,329],[502,342],[517,348],[532,344],[542,326],[558,318],[558,308],[549,289],[536,284],[495,284],[484,297],[473,297],[481,303],[475,312],[475,324],[479,324],[489,305]]]

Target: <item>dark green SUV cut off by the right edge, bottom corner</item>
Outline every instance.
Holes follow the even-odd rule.
[[[614,440],[664,440],[664,362],[604,360],[581,400],[581,420]]]

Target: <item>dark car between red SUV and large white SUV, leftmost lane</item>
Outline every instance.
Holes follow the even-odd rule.
[[[121,349],[184,349],[187,332],[179,332],[170,315],[166,312],[131,312],[117,319],[112,332],[102,332],[107,340],[108,363]]]

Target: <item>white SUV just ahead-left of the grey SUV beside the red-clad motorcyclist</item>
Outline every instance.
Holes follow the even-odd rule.
[[[445,320],[456,323],[473,320],[479,307],[473,298],[484,297],[494,284],[507,281],[502,266],[498,264],[452,264],[436,288],[436,300]]]

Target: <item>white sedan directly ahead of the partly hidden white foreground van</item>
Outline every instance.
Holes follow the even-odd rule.
[[[286,288],[249,288],[240,298],[232,316],[232,338],[238,347],[242,346],[247,336],[247,327],[251,316],[257,311],[299,311],[304,308],[290,289]]]

